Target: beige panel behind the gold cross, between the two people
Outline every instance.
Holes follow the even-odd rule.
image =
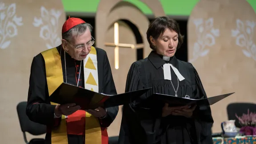
[[[133,36],[133,32],[129,28],[129,26],[124,22],[118,22],[118,23],[119,23],[119,34],[120,34],[119,42],[125,43],[125,44],[136,44],[135,37]],[[105,35],[106,36],[105,40],[107,42],[114,43],[113,35],[114,35],[114,28],[113,26],[111,26]],[[124,89],[125,89],[124,79],[126,79],[126,76],[129,71],[128,65],[131,65],[132,62],[136,60],[136,49],[119,48],[119,68],[118,69],[115,69],[115,66],[114,66],[115,60],[113,59],[115,47],[106,46],[104,49],[108,53],[108,59],[112,67],[112,74],[113,74],[113,79],[115,80],[117,93],[122,93],[124,92]],[[120,106],[119,109],[121,111],[122,107]],[[114,121],[114,124],[111,124],[111,126],[108,128],[109,136],[119,135],[119,131],[113,132],[112,130],[120,129],[120,124],[121,124],[120,117],[122,117],[121,112],[118,113],[117,119]]]

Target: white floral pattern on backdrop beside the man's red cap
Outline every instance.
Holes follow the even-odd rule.
[[[58,36],[59,19],[62,11],[51,9],[47,10],[44,6],[41,6],[41,17],[35,17],[33,25],[40,27],[40,37],[43,40],[47,40],[46,47],[48,49],[54,48],[61,44],[61,39]]]

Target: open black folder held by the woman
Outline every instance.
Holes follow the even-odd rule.
[[[184,105],[197,105],[197,106],[207,106],[217,103],[218,101],[232,95],[235,92],[227,93],[219,96],[212,96],[204,99],[190,99],[189,97],[176,97],[164,94],[154,93],[150,98],[153,100],[160,100],[163,103],[168,103],[169,106],[184,106]]]

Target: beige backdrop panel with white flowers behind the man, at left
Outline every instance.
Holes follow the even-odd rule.
[[[1,144],[24,143],[16,105],[27,101],[33,56],[61,43],[61,27],[65,20],[61,0],[1,0]],[[28,140],[30,138],[28,135]]]

